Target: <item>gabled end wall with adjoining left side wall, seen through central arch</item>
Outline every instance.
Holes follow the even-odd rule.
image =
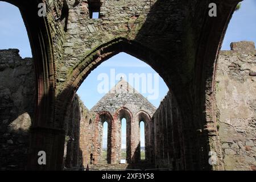
[[[82,162],[86,164],[85,166],[94,169],[154,168],[154,142],[152,142],[152,140],[154,140],[154,135],[152,135],[154,126],[152,125],[151,118],[156,108],[148,102],[142,94],[129,85],[127,81],[121,78],[121,80],[110,89],[109,93],[102,97],[90,111],[85,108],[77,96],[75,100],[78,105],[81,105],[75,109],[75,112],[77,113],[77,111],[81,110],[86,111],[86,117],[82,116],[85,114],[72,114],[69,120],[72,123],[76,123],[76,120],[80,120],[80,125],[85,125],[81,125],[80,127],[77,127],[77,125],[72,126],[76,128],[75,133],[80,132],[80,135],[86,133],[86,137],[80,136],[80,138],[79,135],[75,136],[71,133],[72,138],[75,140],[80,139],[82,156],[87,156],[81,156],[80,159],[82,159],[82,161],[80,161],[79,166],[81,166]],[[81,111],[81,113],[84,113],[84,111]],[[90,115],[90,118],[88,118],[88,115]],[[75,116],[75,122],[73,122],[73,116]],[[123,118],[126,119],[126,164],[119,165],[121,163],[121,120]],[[145,127],[146,153],[146,158],[143,161],[141,160],[139,126],[139,123],[142,121]],[[108,123],[106,159],[102,156],[104,122]],[[77,159],[73,160],[73,162],[69,161],[70,158],[68,155],[71,155],[70,153],[72,152],[69,151],[69,147],[67,147],[66,164],[72,163],[71,165],[67,165],[69,168],[77,166],[77,162],[74,163]],[[77,151],[75,151],[75,154],[77,154]],[[77,155],[73,156],[77,158]]]

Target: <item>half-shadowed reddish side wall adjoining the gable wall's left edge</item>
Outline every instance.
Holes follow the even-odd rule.
[[[77,94],[68,110],[68,121],[65,126],[64,167],[86,168],[92,153],[92,120],[93,114],[85,107]],[[90,122],[91,121],[91,122]]]

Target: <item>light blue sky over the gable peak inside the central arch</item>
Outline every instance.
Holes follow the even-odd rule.
[[[110,72],[115,72],[115,77],[110,76]],[[110,80],[115,81],[115,84],[119,81],[121,76],[118,76],[119,74],[125,75],[127,77],[127,81],[129,80],[129,74],[135,74],[138,73],[139,75],[143,74],[146,75],[146,78],[149,78],[154,80],[155,76],[158,76],[158,73],[154,71],[149,65],[144,63],[143,61],[127,55],[126,53],[119,53],[118,55],[113,56],[111,59],[105,61],[101,65],[99,65],[94,71],[90,73],[90,75],[85,79],[85,81],[80,86],[79,90],[77,91],[77,94],[79,94],[82,101],[84,101],[84,104],[88,109],[91,109],[105,94],[105,93],[98,93],[98,84],[102,82],[102,80],[98,80],[98,76],[102,73],[105,73],[108,75],[108,82],[110,83]],[[168,88],[166,86],[166,83],[163,81],[161,77],[158,76],[159,79],[159,86],[153,82],[152,86],[150,88],[153,88],[156,93],[159,93],[159,96],[156,97],[156,99],[149,100],[155,107],[158,107],[160,104],[160,101],[166,96],[166,93],[168,92]],[[149,81],[147,79],[147,81]],[[130,82],[131,83],[131,82]],[[114,86],[114,85],[112,85]],[[108,91],[112,88],[111,85],[108,85]],[[132,84],[131,86],[135,86]],[[148,85],[147,85],[148,86]],[[142,80],[139,83],[139,92],[142,93]],[[146,91],[148,89],[146,88]],[[144,97],[152,96],[153,94],[145,92],[142,93]],[[92,97],[93,96],[93,97]]]

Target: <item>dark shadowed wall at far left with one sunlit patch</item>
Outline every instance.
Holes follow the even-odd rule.
[[[26,168],[35,88],[33,60],[18,49],[0,50],[0,170]]]

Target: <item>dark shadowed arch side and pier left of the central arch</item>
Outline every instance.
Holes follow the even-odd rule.
[[[2,1],[2,0],[1,0]],[[60,130],[54,122],[55,110],[55,53],[53,46],[52,20],[47,17],[38,16],[38,4],[43,1],[15,1],[3,0],[19,8],[24,24],[26,26],[28,39],[35,62],[36,75],[36,103],[34,122],[30,129],[31,142],[28,154],[27,169],[63,169],[63,151],[65,132]],[[50,13],[50,12],[48,12]],[[59,35],[61,36],[61,35]],[[52,147],[49,147],[49,143]],[[61,154],[59,144],[61,143]],[[47,153],[47,164],[38,165],[38,152]],[[51,161],[51,162],[49,162]],[[57,167],[51,164],[60,164]]]

